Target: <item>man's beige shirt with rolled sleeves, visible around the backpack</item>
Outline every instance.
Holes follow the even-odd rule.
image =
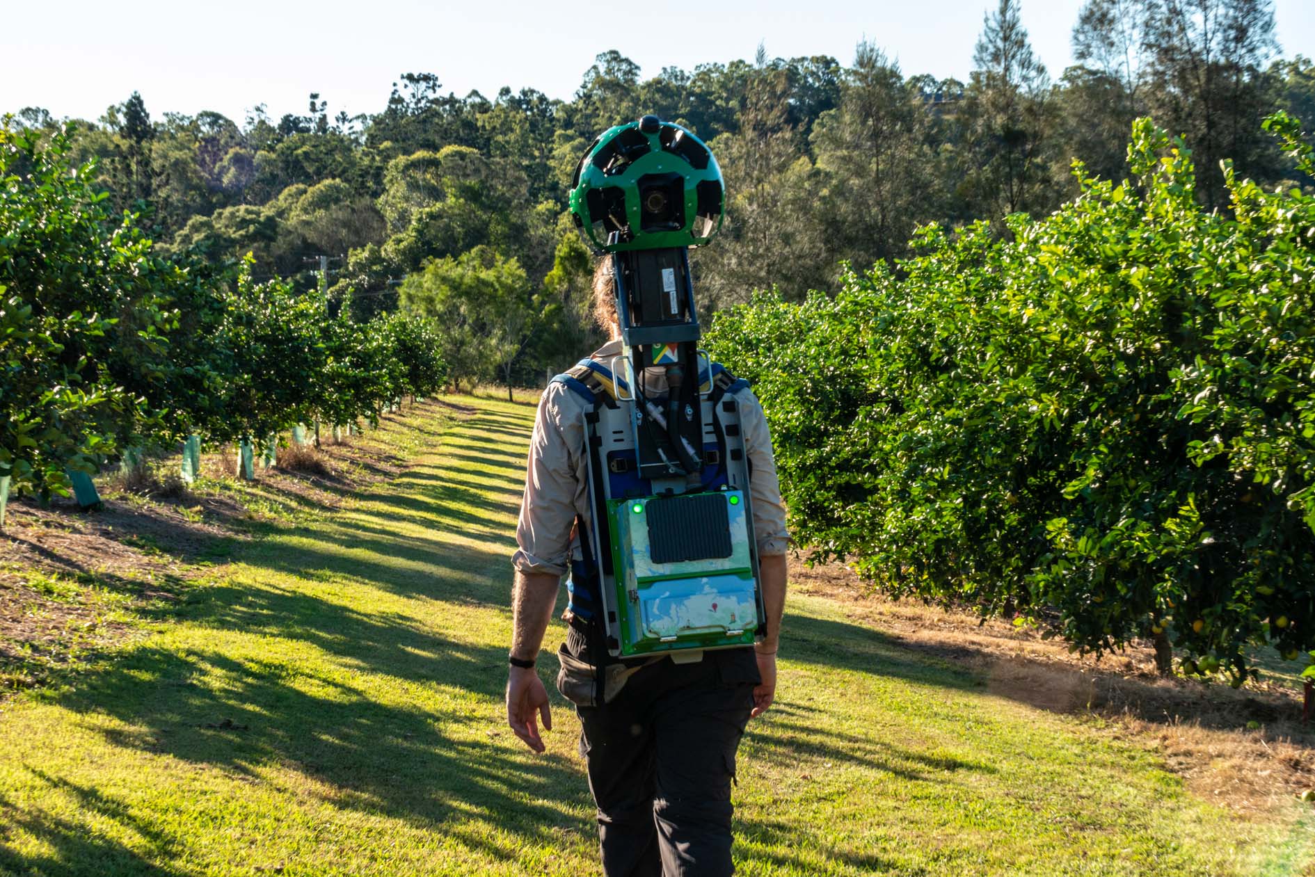
[[[611,342],[593,358],[606,362],[619,352],[619,342]],[[734,398],[739,404],[740,431],[752,465],[750,496],[757,554],[782,555],[789,534],[763,406],[750,389],[738,391]],[[565,575],[576,515],[586,526],[593,525],[584,437],[585,405],[579,394],[560,383],[550,384],[539,398],[539,414],[530,438],[521,521],[515,529],[517,550],[512,555],[513,565],[521,572]]]

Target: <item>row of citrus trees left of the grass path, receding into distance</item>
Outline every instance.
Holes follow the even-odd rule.
[[[164,258],[62,133],[0,128],[0,477],[42,496],[129,447],[377,417],[446,380],[435,326],[354,322],[250,264]]]

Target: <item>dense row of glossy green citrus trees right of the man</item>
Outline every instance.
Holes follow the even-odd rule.
[[[1291,117],[1266,122],[1304,174]],[[792,526],[896,594],[1019,613],[1189,673],[1315,648],[1315,197],[1140,120],[1132,180],[1009,237],[931,225],[835,297],[722,313]],[[1315,652],[1311,652],[1315,655]]]

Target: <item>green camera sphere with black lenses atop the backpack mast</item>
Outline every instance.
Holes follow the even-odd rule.
[[[609,252],[701,246],[722,226],[725,209],[713,151],[656,116],[600,134],[571,179],[576,226]]]

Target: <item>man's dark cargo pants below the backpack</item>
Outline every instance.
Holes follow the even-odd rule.
[[[589,660],[575,628],[567,648]],[[752,648],[707,652],[644,667],[611,703],[576,707],[606,877],[735,872],[731,781],[759,681]]]

